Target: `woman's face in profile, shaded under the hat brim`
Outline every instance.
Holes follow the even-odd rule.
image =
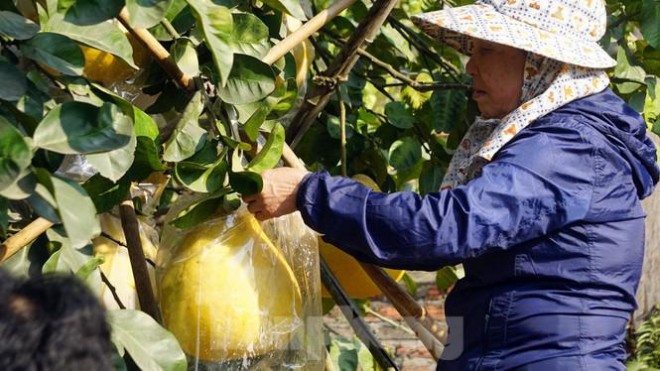
[[[510,46],[473,39],[466,66],[473,78],[472,99],[485,118],[502,118],[520,104],[527,53]]]

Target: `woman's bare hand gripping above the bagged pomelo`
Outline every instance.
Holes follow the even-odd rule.
[[[266,170],[261,193],[244,195],[248,210],[259,220],[266,220],[296,211],[298,186],[308,172],[292,168]]]

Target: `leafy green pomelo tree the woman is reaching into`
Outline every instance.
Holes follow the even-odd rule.
[[[111,283],[92,244],[99,215],[120,209],[119,242],[148,244],[138,218],[158,228],[185,193],[200,197],[173,221],[180,228],[233,210],[290,148],[309,169],[365,174],[386,192],[437,190],[477,112],[465,56],[410,16],[471,2],[3,1],[3,266],[73,272],[101,291]],[[607,7],[601,44],[618,62],[612,87],[660,133],[660,3]],[[328,9],[341,13],[281,43]],[[133,264],[149,291],[147,265]],[[452,277],[444,270],[439,283]],[[141,368],[185,367],[176,340],[150,318],[153,298],[140,305],[111,313],[119,353]],[[144,346],[157,340],[169,357]]]

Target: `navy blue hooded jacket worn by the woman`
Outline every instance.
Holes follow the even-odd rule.
[[[640,199],[658,181],[644,122],[609,89],[536,120],[464,186],[420,197],[313,173],[305,222],[356,258],[436,270],[443,370],[623,370],[644,255]]]

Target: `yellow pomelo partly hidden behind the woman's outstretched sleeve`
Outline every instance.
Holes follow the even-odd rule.
[[[367,175],[356,174],[353,176],[353,179],[367,187],[380,191],[378,184]],[[360,263],[355,258],[343,252],[338,247],[323,241],[320,237],[319,253],[350,297],[364,299],[381,294],[378,286],[371,281],[369,275],[362,269]],[[399,281],[406,273],[405,271],[396,269],[385,269],[385,272],[395,281]],[[326,298],[330,297],[330,293],[325,287],[321,291],[321,295]]]

